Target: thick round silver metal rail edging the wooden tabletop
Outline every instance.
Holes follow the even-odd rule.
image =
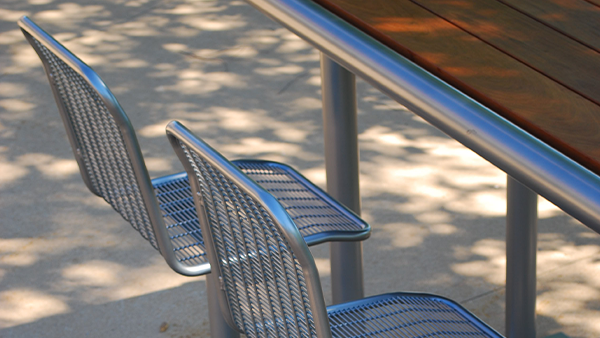
[[[600,232],[600,177],[311,0],[247,0],[327,56]]]

